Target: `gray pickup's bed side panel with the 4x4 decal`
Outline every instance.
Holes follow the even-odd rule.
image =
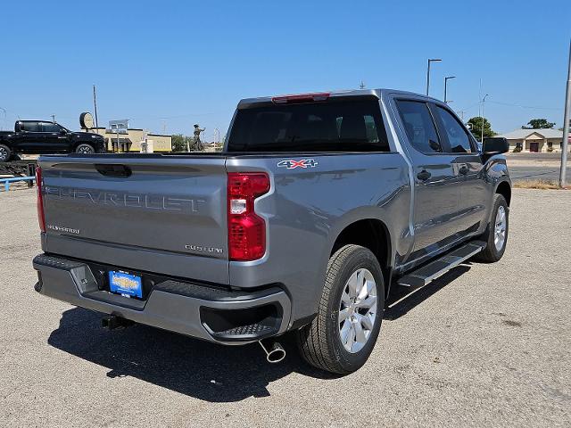
[[[277,166],[303,159],[313,160],[313,166]],[[284,284],[293,320],[316,312],[327,260],[346,226],[376,218],[399,245],[393,252],[409,250],[410,178],[399,153],[244,156],[228,158],[227,170],[268,171],[272,182],[270,192],[255,204],[266,220],[266,255],[252,262],[231,261],[230,284]]]

